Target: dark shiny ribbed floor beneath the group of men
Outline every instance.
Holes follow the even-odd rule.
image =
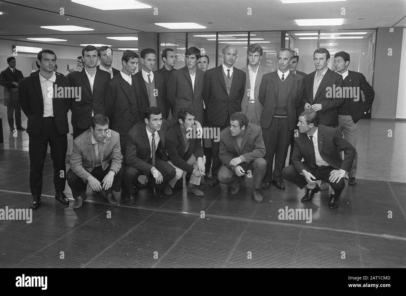
[[[3,117],[5,107],[0,111]],[[111,206],[88,187],[83,207],[73,210],[72,202],[54,200],[48,155],[41,207],[32,211],[32,222],[0,220],[0,267],[405,268],[405,124],[361,120],[358,184],[346,186],[337,210],[328,209],[328,192],[302,204],[303,192],[286,181],[285,191],[271,187],[257,204],[251,178],[242,181],[237,196],[206,182],[202,198],[183,189],[158,200],[142,190],[132,206],[119,193],[119,205]],[[3,117],[0,211],[28,209],[28,137],[10,136],[7,127]],[[279,220],[285,207],[311,210],[312,222]]]

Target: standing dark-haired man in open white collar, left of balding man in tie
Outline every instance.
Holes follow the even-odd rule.
[[[166,99],[173,106],[173,117],[181,108],[190,108],[196,120],[203,122],[203,78],[204,72],[197,68],[200,50],[190,47],[186,50],[186,66],[175,70],[166,86]],[[192,81],[193,79],[193,81]]]

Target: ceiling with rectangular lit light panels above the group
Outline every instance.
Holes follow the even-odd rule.
[[[112,0],[114,1],[114,0]],[[106,39],[137,36],[138,32],[216,32],[256,30],[366,29],[406,26],[406,0],[347,0],[282,4],[280,0],[145,0],[151,9],[110,10],[76,4],[70,0],[0,0],[0,39],[27,41],[28,37],[67,39],[52,42],[66,46],[101,43],[113,48],[137,47],[137,41]],[[65,15],[60,15],[63,7]],[[158,15],[154,11],[158,8]],[[247,9],[252,9],[252,15]],[[346,15],[341,15],[345,8]],[[342,26],[298,26],[295,19],[344,18]],[[363,20],[360,20],[363,19]],[[158,22],[196,22],[199,30],[170,30]],[[94,31],[60,32],[40,26],[88,26]],[[38,41],[34,41],[38,43]],[[50,43],[50,42],[44,42]]]

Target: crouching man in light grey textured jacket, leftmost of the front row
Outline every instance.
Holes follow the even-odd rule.
[[[73,209],[82,207],[87,183],[94,191],[100,192],[110,205],[117,205],[112,191],[120,191],[123,155],[120,135],[108,128],[109,123],[106,115],[96,114],[91,118],[90,130],[73,140],[69,158],[71,168],[66,176],[75,198]]]

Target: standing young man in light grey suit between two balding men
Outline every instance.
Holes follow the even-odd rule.
[[[262,105],[258,101],[259,84],[262,75],[271,71],[260,66],[262,58],[262,47],[258,44],[251,44],[247,50],[248,66],[242,68],[246,73],[245,93],[241,101],[241,111],[248,117],[248,121],[261,125]]]

